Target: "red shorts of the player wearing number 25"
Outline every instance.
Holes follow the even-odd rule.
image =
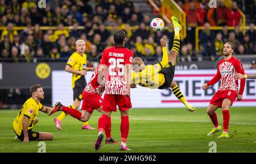
[[[120,94],[105,94],[103,98],[103,111],[126,111],[131,108],[131,98]]]

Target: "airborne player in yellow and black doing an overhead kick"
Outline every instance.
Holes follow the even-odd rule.
[[[195,107],[187,102],[183,94],[180,92],[176,81],[173,80],[176,58],[180,49],[181,26],[177,18],[174,16],[172,16],[172,23],[174,24],[175,36],[174,44],[169,55],[167,53],[166,40],[162,38],[160,40],[160,44],[163,49],[163,58],[160,63],[145,66],[141,58],[134,58],[132,61],[134,72],[131,74],[131,88],[135,88],[137,84],[141,87],[148,87],[151,89],[166,89],[171,87],[172,92],[174,92],[175,96],[184,103],[187,110],[193,112],[196,110]]]

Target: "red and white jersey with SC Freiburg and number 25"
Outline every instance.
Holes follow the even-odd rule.
[[[126,92],[125,64],[131,64],[133,51],[126,48],[105,49],[102,54],[101,64],[108,67],[105,72],[106,94],[121,94]]]

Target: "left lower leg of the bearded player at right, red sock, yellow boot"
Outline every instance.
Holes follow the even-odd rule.
[[[212,131],[210,131],[208,133],[208,136],[213,136],[216,132],[220,132],[222,129],[221,129],[221,126],[218,125],[218,118],[217,118],[217,114],[216,114],[216,110],[218,109],[218,106],[217,105],[213,105],[213,104],[209,104],[209,107],[207,108],[207,114],[209,115],[210,117],[210,120],[212,121],[213,123],[213,129]]]

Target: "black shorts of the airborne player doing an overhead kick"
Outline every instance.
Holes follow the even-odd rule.
[[[172,80],[174,80],[174,72],[175,72],[175,66],[172,66],[172,63],[169,62],[166,67],[163,68],[163,70],[159,71],[159,74],[164,75],[164,84],[158,87],[158,89],[166,89],[170,88]]]

